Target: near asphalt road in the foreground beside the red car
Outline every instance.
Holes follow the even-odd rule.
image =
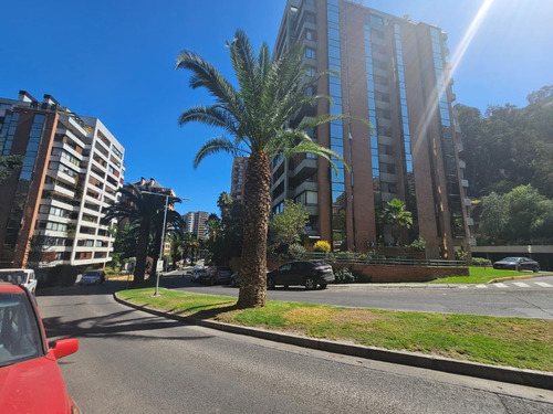
[[[188,326],[114,301],[123,283],[39,290],[84,413],[553,413],[553,392]]]

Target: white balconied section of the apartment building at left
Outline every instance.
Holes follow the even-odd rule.
[[[102,209],[118,201],[125,149],[97,118],[58,112],[58,124],[34,226],[45,245],[41,265],[102,267],[114,237]]]

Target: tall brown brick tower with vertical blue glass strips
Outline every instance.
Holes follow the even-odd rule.
[[[470,200],[465,197],[461,135],[452,103],[447,35],[427,23],[394,17],[346,0],[289,0],[275,56],[300,42],[309,76],[335,71],[313,93],[328,95],[301,110],[291,124],[319,114],[368,119],[337,120],[311,131],[319,144],[349,166],[311,156],[272,160],[272,209],[285,199],[306,205],[307,234],[335,250],[363,252],[392,244],[378,211],[393,199],[405,201],[414,225],[403,244],[426,241],[428,258],[455,258],[469,251]]]

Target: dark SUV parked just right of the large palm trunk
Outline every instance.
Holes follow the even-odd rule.
[[[290,262],[267,275],[267,287],[274,288],[276,285],[303,285],[306,289],[315,289],[319,285],[322,289],[334,282],[332,266],[323,261],[299,261]]]

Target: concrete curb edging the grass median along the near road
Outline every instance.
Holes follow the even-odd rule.
[[[376,347],[363,347],[352,343],[328,341],[325,339],[306,338],[285,332],[269,331],[259,328],[240,327],[237,325],[222,323],[213,320],[204,320],[187,316],[167,314],[160,310],[148,308],[147,306],[135,305],[117,297],[117,293],[114,294],[114,298],[119,304],[129,306],[138,310],[144,310],[148,314],[184,321],[191,325],[199,325],[206,328],[218,329],[225,332],[244,335],[325,352],[425,368],[459,375],[476,376],[491,381],[509,382],[512,384],[534,386],[553,391],[553,372],[542,372],[534,370],[523,370],[512,367],[497,367],[478,362],[458,361],[449,358],[432,357],[417,352],[392,351]]]

